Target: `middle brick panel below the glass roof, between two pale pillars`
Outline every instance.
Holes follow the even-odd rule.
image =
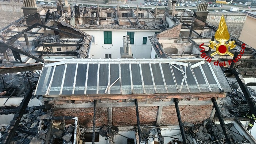
[[[156,125],[158,106],[139,107],[140,124]],[[116,107],[112,109],[113,125],[132,126],[137,125],[135,107]]]

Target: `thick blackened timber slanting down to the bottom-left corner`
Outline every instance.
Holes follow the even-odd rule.
[[[3,139],[1,141],[1,144],[10,144],[12,141],[13,136],[15,135],[15,132],[17,128],[19,127],[20,120],[25,113],[25,110],[27,108],[28,102],[30,101],[30,98],[32,97],[33,89],[31,88],[29,92],[26,94],[22,102],[20,103],[18,112],[14,115],[11,124],[7,128],[8,131],[3,135]]]

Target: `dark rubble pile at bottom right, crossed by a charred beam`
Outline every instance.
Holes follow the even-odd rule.
[[[249,144],[245,137],[237,137],[234,135],[234,133],[239,133],[230,130],[233,126],[233,123],[227,124],[229,136],[233,140],[232,143]],[[203,121],[203,124],[191,124],[190,122],[184,123],[184,130],[190,144],[224,144],[226,143],[225,135],[220,129],[220,126],[216,125],[210,119]]]

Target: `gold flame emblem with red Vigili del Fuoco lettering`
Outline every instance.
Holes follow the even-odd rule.
[[[214,51],[212,54],[211,54],[211,57],[213,57],[214,55],[218,54],[218,55],[230,55],[230,57],[234,57],[234,54],[232,54],[231,52],[229,52],[229,50],[232,50],[233,48],[236,47],[236,44],[235,41],[229,41],[228,44],[226,44],[226,42],[229,40],[229,33],[228,33],[228,27],[226,25],[226,22],[225,22],[225,19],[224,19],[224,16],[222,15],[221,16],[221,20],[220,20],[220,24],[219,24],[219,27],[215,33],[215,39],[218,41],[215,42],[215,41],[212,41],[210,40],[210,45],[209,47],[212,48],[213,50],[216,50]],[[205,52],[205,48],[202,47],[204,43],[202,43],[199,48],[201,48],[201,57],[206,59],[208,62],[211,62],[212,61],[212,58],[209,57]],[[227,64],[231,65],[232,61],[233,62],[237,62],[238,59],[240,59],[242,57],[242,54],[244,54],[244,49],[245,49],[245,44],[243,43],[242,44],[242,49],[240,51],[240,54],[237,55],[236,58],[234,59],[230,59],[228,60]],[[226,62],[214,62],[214,65],[220,65],[220,66],[226,66]]]

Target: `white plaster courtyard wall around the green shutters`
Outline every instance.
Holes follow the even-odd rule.
[[[105,54],[112,54],[112,58],[121,58],[120,47],[123,47],[123,36],[127,35],[127,30],[81,30],[94,36],[95,43],[91,44],[90,58],[105,58]],[[112,44],[104,44],[104,31],[112,31]],[[134,32],[134,44],[131,44],[133,57],[150,58],[152,44],[148,38],[147,44],[142,44],[143,37],[154,35],[156,31],[129,31]]]

